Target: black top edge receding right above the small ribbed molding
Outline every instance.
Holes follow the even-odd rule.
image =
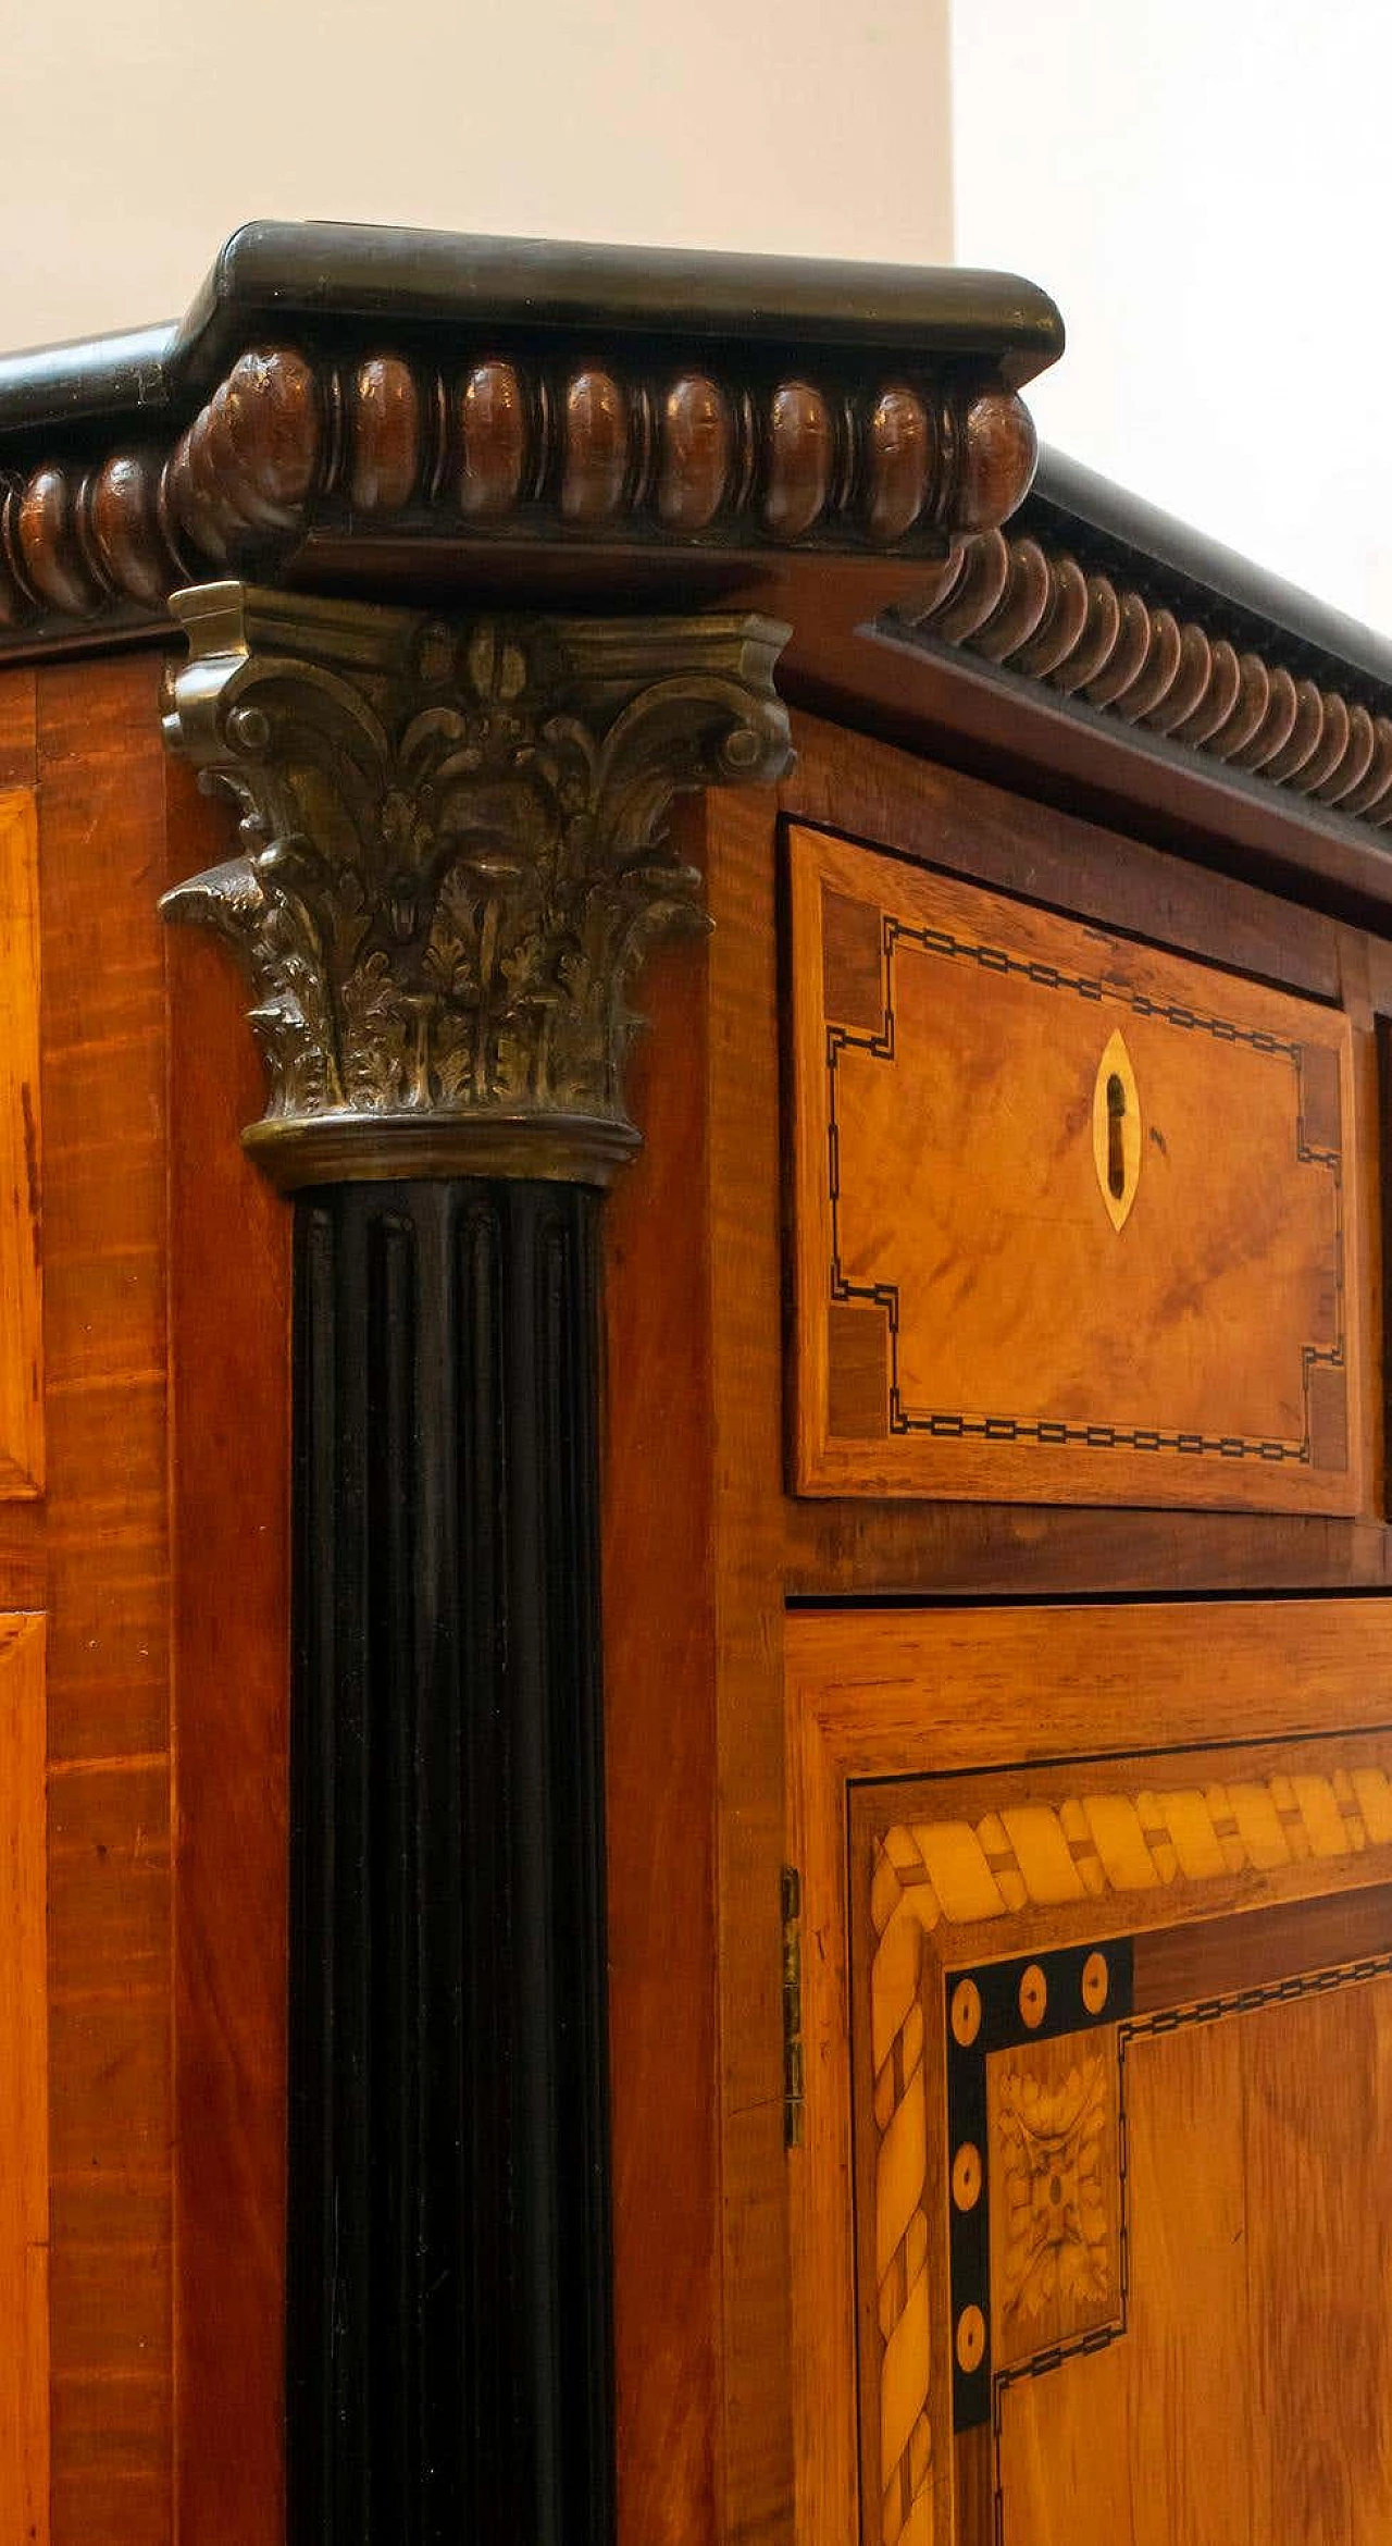
[[[1313,593],[1285,583],[1283,575],[1270,575],[1234,547],[1224,547],[1221,540],[1191,530],[1188,522],[1176,522],[1158,504],[1127,494],[1125,486],[1097,476],[1082,461],[1064,458],[1061,451],[1041,451],[1038,474],[1015,527],[1043,530],[1061,547],[1102,542],[1120,575],[1130,573],[1132,580],[1145,580],[1150,565],[1160,570],[1166,583],[1186,586],[1191,616],[1201,619],[1206,629],[1214,621],[1214,603],[1227,603],[1239,619],[1255,624],[1252,634],[1257,626],[1275,629],[1300,649],[1331,657],[1367,680],[1392,687],[1392,642],[1377,629],[1328,608]],[[1166,598],[1178,606],[1183,593],[1166,593]]]

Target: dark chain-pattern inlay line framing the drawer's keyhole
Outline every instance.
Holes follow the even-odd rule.
[[[880,911],[880,965],[883,965],[883,1023],[878,1034],[860,1026],[832,1026],[827,1023],[827,1199],[830,1199],[830,1301],[842,1306],[847,1301],[865,1301],[868,1306],[886,1311],[888,1326],[888,1433],[926,1433],[934,1441],[1008,1441],[1028,1444],[1036,1449],[1140,1449],[1140,1451],[1176,1451],[1186,1459],[1262,1459],[1270,1466],[1311,1466],[1313,1464],[1313,1416],[1311,1416],[1311,1377],[1316,1370],[1344,1370],[1346,1367],[1346,1334],[1344,1334],[1344,1309],[1346,1309],[1346,1276],[1344,1276],[1344,1156],[1341,1148],[1316,1148],[1305,1138],[1305,1051],[1328,1046],[1288,1044],[1277,1034],[1267,1034],[1262,1026],[1234,1026],[1224,1016],[1209,1016],[1201,1008],[1188,1008],[1183,1001],[1150,998],[1145,990],[1130,990],[1125,983],[1099,980],[1089,973],[1069,973],[1061,965],[1023,960],[1010,955],[1005,947],[992,947],[975,942],[970,937],[957,937],[952,929],[914,927],[908,919],[896,919],[893,911]],[[842,1197],[842,1158],[840,1158],[840,1118],[837,1118],[837,1085],[840,1085],[840,1054],[863,1051],[875,1062],[896,1059],[896,1013],[893,1013],[893,960],[898,945],[919,947],[924,955],[942,955],[947,962],[967,960],[980,965],[982,973],[1015,975],[1018,980],[1031,980],[1041,990],[1071,990],[1076,998],[1092,1001],[1097,1006],[1115,1003],[1127,1016],[1158,1018],[1166,1026],[1176,1026],[1186,1034],[1209,1034],[1216,1044],[1247,1044],[1270,1059],[1285,1059],[1295,1067],[1295,1161],[1300,1166],[1326,1166],[1333,1189],[1333,1344],[1303,1344],[1300,1347],[1300,1400],[1305,1408],[1305,1428],[1300,1441],[1262,1441],[1242,1433],[1204,1433],[1204,1431],[1166,1431],[1163,1426],[1145,1423],[1066,1423],[1051,1421],[1046,1416],[1018,1416],[1018,1413],[992,1413],[970,1416],[959,1410],[934,1408],[916,1410],[903,1403],[898,1382],[898,1283],[855,1283],[842,1273],[840,1260],[840,1197]]]

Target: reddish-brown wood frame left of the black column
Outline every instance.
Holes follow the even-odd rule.
[[[5,1706],[3,2467],[41,2546],[272,2533],[280,2500],[285,1230],[237,1146],[237,988],[155,911],[214,827],[186,779],[165,805],[160,670],[0,680],[3,1049],[38,1013],[46,1174],[46,1492],[0,1502],[0,1607],[38,1619]]]

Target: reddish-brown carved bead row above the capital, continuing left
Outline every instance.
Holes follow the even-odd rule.
[[[1036,435],[1008,390],[817,362],[242,354],[173,446],[0,479],[0,636],[158,611],[209,565],[262,573],[310,527],[354,540],[608,535],[664,547],[939,555],[1003,522]]]

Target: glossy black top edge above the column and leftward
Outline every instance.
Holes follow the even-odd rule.
[[[919,351],[977,359],[1010,390],[1064,349],[1059,311],[1018,275],[249,222],[178,323],[0,356],[0,433],[168,412],[265,328],[313,339],[359,321]]]

